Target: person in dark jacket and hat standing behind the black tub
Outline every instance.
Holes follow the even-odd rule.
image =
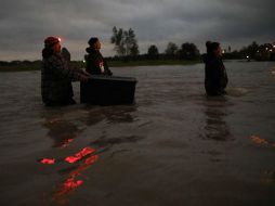
[[[99,38],[92,37],[89,41],[89,48],[86,49],[87,55],[84,56],[86,60],[86,72],[91,75],[106,75],[112,76],[113,73],[110,72],[106,61],[102,56],[101,50],[101,42]]]

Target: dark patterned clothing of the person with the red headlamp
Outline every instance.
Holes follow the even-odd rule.
[[[66,105],[75,101],[71,81],[80,80],[81,69],[70,68],[61,55],[43,59],[41,94],[45,105]]]

